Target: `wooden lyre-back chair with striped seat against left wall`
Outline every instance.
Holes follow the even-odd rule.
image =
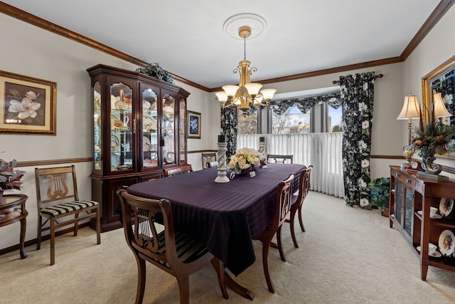
[[[100,205],[97,201],[79,199],[74,165],[35,168],[35,181],[38,204],[36,250],[41,248],[43,231],[50,230],[50,265],[55,264],[55,231],[61,227],[74,224],[74,236],[77,236],[79,222],[95,218],[97,244],[101,243]],[[45,227],[48,222],[49,226]]]

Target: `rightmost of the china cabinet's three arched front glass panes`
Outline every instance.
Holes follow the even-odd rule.
[[[174,115],[176,112],[176,98],[170,94],[163,95],[163,119],[161,121],[161,137],[163,149],[163,164],[176,163],[176,125]]]

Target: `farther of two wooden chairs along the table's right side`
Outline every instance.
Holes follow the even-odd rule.
[[[294,219],[296,214],[299,214],[299,223],[301,231],[305,232],[304,221],[301,219],[301,206],[304,204],[304,200],[306,195],[308,194],[311,184],[310,184],[310,177],[311,177],[311,169],[313,169],[313,165],[310,164],[305,170],[301,172],[300,175],[300,182],[299,182],[299,194],[293,195],[291,197],[291,211],[289,212],[286,221],[291,226],[291,236],[292,241],[294,242],[294,246],[299,248],[299,244],[296,240],[296,235],[294,233]],[[284,260],[283,260],[284,261]]]

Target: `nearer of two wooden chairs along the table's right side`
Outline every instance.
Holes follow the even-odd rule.
[[[294,173],[289,174],[289,177],[285,181],[278,184],[274,216],[270,219],[266,229],[252,238],[262,242],[262,267],[264,268],[265,280],[271,293],[274,293],[275,290],[269,273],[269,248],[274,235],[277,234],[279,255],[284,259],[281,231],[286,215],[291,209],[291,182],[294,180],[294,177]]]

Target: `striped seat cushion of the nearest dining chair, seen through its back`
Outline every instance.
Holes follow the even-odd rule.
[[[165,255],[166,243],[164,241],[164,231],[161,231],[161,233],[158,234],[158,239],[160,244],[158,253]],[[208,249],[205,247],[205,243],[203,241],[197,241],[196,239],[178,231],[176,231],[176,250],[178,259],[183,263],[191,263],[192,261],[196,261],[198,258],[204,256],[205,253],[208,253]],[[164,263],[164,261],[159,260],[155,261],[169,268],[168,263]]]

